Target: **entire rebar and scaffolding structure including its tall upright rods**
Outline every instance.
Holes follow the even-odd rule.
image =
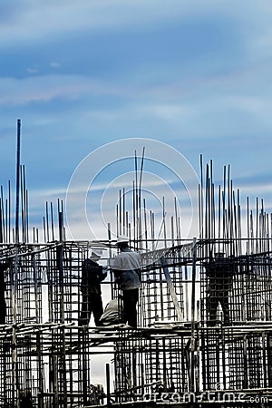
[[[155,246],[155,214],[138,217],[137,184],[131,236],[120,191],[118,231],[130,235],[142,260],[138,327],[132,328],[79,325],[83,260],[101,248],[109,264],[117,253],[111,225],[105,240],[66,240],[63,204],[54,222],[50,203],[43,242],[36,230],[31,242],[20,167],[22,210],[17,206],[15,229],[3,189],[0,200],[0,262],[8,264],[2,272],[1,407],[272,404],[271,214],[258,200],[254,210],[248,201],[242,211],[229,167],[217,191],[212,163],[205,177],[202,159],[200,169],[196,238],[181,237],[174,211],[170,230],[165,223]],[[102,292],[120,298],[112,273]]]

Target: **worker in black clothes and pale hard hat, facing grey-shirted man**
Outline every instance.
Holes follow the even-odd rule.
[[[95,325],[103,313],[101,282],[107,276],[106,267],[97,262],[102,257],[102,249],[93,248],[90,258],[83,261],[81,292],[83,294],[82,310],[79,325],[89,325],[91,315]]]

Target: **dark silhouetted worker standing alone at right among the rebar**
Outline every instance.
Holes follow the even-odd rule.
[[[209,325],[216,325],[217,308],[222,307],[224,324],[230,323],[228,294],[232,288],[232,277],[235,273],[235,265],[229,258],[224,257],[224,253],[215,254],[205,265],[207,277],[209,277],[207,311]]]

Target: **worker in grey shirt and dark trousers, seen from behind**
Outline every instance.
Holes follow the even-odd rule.
[[[111,268],[115,282],[122,291],[124,319],[131,327],[137,327],[137,303],[141,287],[141,256],[129,248],[128,237],[118,237],[117,247],[120,249],[120,253],[112,259]]]

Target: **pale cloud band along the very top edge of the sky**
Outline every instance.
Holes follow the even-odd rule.
[[[18,3],[18,11],[15,4]],[[13,9],[11,9],[13,7]],[[11,15],[8,24],[0,26],[0,37],[5,38],[1,47],[10,44],[31,43],[41,39],[53,39],[56,34],[79,32],[80,30],[121,30],[124,27],[144,27],[145,30],[162,21],[183,21],[187,17],[199,18],[213,15],[222,16],[241,22],[254,24],[257,37],[261,20],[271,20],[269,0],[262,0],[261,5],[248,0],[217,1],[205,0],[180,2],[180,0],[49,0],[47,2],[28,0],[13,2],[5,6]],[[245,13],[245,10],[247,12]],[[25,29],[27,28],[27,29]],[[267,34],[265,35],[267,38]],[[266,40],[260,41],[266,44]]]

